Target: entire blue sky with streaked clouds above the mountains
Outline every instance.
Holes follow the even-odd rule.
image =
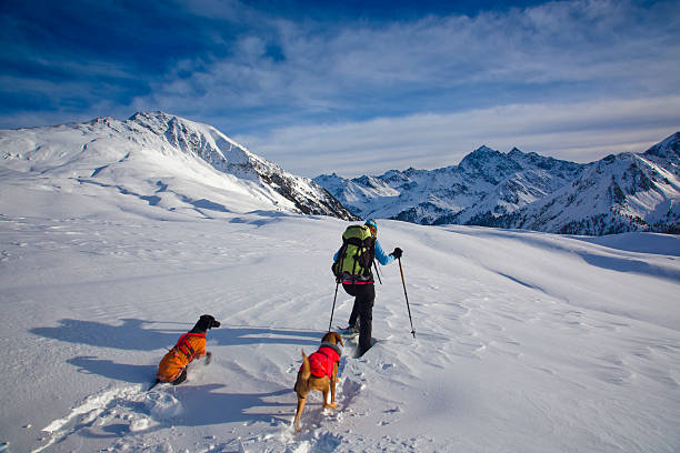
[[[164,111],[296,174],[680,130],[680,1],[0,1],[0,128]]]

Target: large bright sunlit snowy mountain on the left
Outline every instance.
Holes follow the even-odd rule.
[[[282,170],[210,125],[163,112],[2,130],[0,174],[13,187],[94,197],[113,190],[191,215],[279,210],[354,219],[312,180]]]

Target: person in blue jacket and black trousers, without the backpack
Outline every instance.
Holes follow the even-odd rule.
[[[373,246],[373,256],[378,260],[378,262],[382,265],[390,264],[396,259],[401,258],[402,250],[400,248],[396,248],[394,251],[390,254],[386,254],[380,245],[380,241],[378,241],[378,223],[373,219],[369,219],[366,221],[364,225],[367,225],[371,235],[374,239]],[[338,259],[338,253],[336,252],[333,256],[333,261]],[[370,262],[373,262],[371,258]],[[353,280],[353,279],[343,279],[342,280],[342,289],[349,295],[354,296],[354,304],[352,306],[352,313],[350,314],[349,325],[347,328],[348,331],[356,332],[359,331],[359,354],[361,356],[371,348],[371,335],[372,335],[372,323],[373,323],[373,302],[376,301],[376,284],[373,281],[372,270],[368,270],[368,278],[362,280]],[[357,325],[357,321],[359,324]]]

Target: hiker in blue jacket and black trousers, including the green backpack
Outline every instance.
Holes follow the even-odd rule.
[[[353,231],[350,232],[351,229]],[[352,242],[349,236],[356,236],[358,242]],[[349,226],[342,238],[343,244],[333,256],[333,273],[342,282],[344,292],[354,296],[354,305],[347,330],[359,331],[359,355],[363,355],[371,348],[373,301],[376,300],[371,271],[374,265],[373,259],[387,265],[401,258],[402,251],[396,248],[389,255],[384,253],[378,241],[378,224],[372,219],[367,220],[363,225]],[[361,243],[361,246],[357,246],[357,243]],[[353,248],[351,248],[352,244],[354,244]],[[358,326],[357,319],[359,319]]]

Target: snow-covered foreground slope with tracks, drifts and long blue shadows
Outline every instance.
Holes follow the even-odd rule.
[[[294,433],[300,350],[313,352],[328,326],[332,241],[343,225],[261,213],[183,222],[3,215],[1,336],[12,346],[2,353],[9,413],[0,441],[9,444],[0,451],[680,446],[680,333],[663,324],[678,316],[660,299],[678,293],[677,255],[389,221],[381,241],[404,249],[417,339],[397,264],[382,268],[378,343],[350,359],[348,342],[339,407],[322,409],[312,392]],[[514,264],[501,259],[507,246]],[[669,272],[598,268],[579,259],[583,250]],[[543,260],[572,280],[541,274]],[[612,284],[622,288],[603,288]],[[621,292],[630,300],[617,305]],[[642,301],[647,312],[631,311]],[[332,325],[344,325],[351,305],[340,289]],[[186,384],[146,392],[164,349],[202,313],[222,321],[208,334],[212,363],[193,363]]]

